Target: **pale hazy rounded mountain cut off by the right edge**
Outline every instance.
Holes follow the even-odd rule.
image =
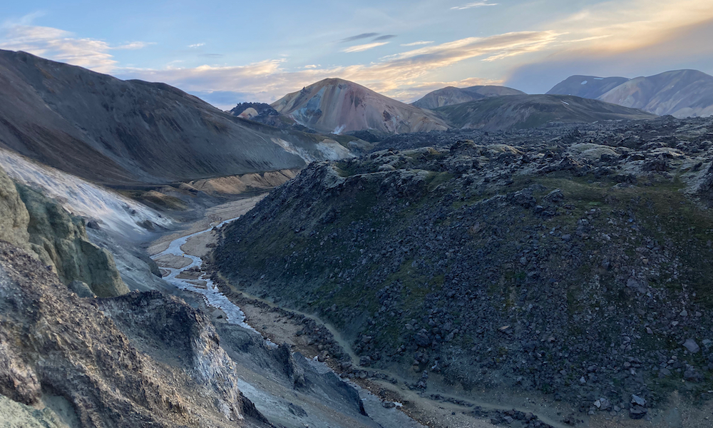
[[[607,103],[677,118],[713,115],[713,76],[696,70],[637,77],[599,97]]]

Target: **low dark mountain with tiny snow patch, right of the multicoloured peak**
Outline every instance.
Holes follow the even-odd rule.
[[[453,128],[483,131],[534,128],[549,122],[591,123],[655,117],[634,108],[563,95],[498,96],[439,107],[434,111]]]

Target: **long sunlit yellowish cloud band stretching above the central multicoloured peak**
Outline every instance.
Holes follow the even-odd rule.
[[[289,70],[285,68],[286,59],[276,59],[251,63],[247,66],[200,66],[165,70],[125,69],[120,73],[120,77],[163,81],[190,93],[200,93],[202,98],[223,109],[230,107],[227,104],[220,104],[222,103],[220,100],[225,99],[227,92],[240,93],[242,101],[270,103],[286,93],[297,91],[303,86],[329,77],[355,81],[379,93],[410,102],[426,92],[443,86],[500,83],[498,80],[479,78],[457,81],[438,79],[429,77],[429,73],[468,58],[492,56],[502,58],[536,49],[546,49],[557,37],[558,34],[549,31],[529,31],[463,39],[386,56],[368,65],[314,66]],[[211,93],[222,93],[220,100],[213,100]],[[235,102],[237,101],[239,100],[236,98]]]

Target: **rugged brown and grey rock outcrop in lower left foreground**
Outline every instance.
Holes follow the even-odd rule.
[[[63,397],[81,427],[269,426],[218,343],[210,320],[175,297],[81,299],[0,243],[0,394],[16,402]]]

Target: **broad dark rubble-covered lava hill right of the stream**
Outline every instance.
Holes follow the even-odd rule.
[[[227,226],[215,267],[416,385],[632,417],[631,394],[710,398],[713,122],[422,135],[451,146],[312,163]]]

